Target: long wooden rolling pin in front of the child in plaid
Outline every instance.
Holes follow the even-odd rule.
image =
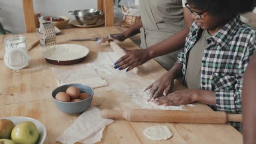
[[[179,122],[179,123],[220,123],[242,122],[242,114],[226,114],[224,111],[201,112],[179,110],[127,109],[102,110],[101,116],[109,119],[126,119],[141,122]]]

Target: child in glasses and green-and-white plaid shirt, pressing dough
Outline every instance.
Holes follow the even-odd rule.
[[[243,74],[256,49],[256,30],[239,13],[254,0],[187,0],[195,20],[170,71],[148,87],[158,105],[209,104],[229,114],[241,113]],[[187,90],[170,93],[174,79],[183,77]],[[238,131],[241,123],[231,122]]]

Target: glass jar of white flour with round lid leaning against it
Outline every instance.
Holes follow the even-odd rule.
[[[4,39],[4,64],[12,70],[20,70],[29,66],[26,38],[14,35]]]

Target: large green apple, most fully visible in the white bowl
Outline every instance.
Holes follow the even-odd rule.
[[[36,144],[39,131],[33,122],[22,122],[12,129],[12,140],[15,144]]]

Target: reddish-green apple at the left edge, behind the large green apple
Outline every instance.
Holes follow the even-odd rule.
[[[1,138],[10,139],[11,137],[10,135],[14,126],[15,125],[11,120],[1,119],[0,120],[0,139]]]

